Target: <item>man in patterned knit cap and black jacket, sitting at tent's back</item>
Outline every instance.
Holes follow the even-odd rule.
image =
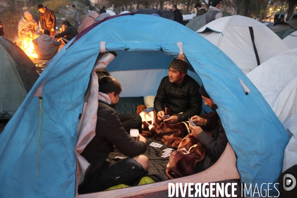
[[[199,84],[187,75],[187,62],[174,58],[168,67],[168,77],[162,79],[153,106],[159,121],[175,124],[199,115],[202,99]],[[167,119],[164,117],[165,106],[172,113]]]

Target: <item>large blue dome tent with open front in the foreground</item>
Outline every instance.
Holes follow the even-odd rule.
[[[253,188],[277,183],[289,136],[241,69],[181,24],[128,13],[82,31],[44,70],[0,135],[0,197],[75,197],[78,131],[84,104],[96,93],[92,71],[100,51],[118,54],[106,69],[123,85],[123,96],[131,97],[155,95],[169,63],[182,51],[191,64],[189,74],[201,79],[218,106],[241,182]],[[140,187],[131,188],[137,193]]]

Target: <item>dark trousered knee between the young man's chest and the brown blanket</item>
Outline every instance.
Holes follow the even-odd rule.
[[[138,129],[142,125],[141,116],[137,113],[119,115],[124,129],[130,134],[130,129]]]

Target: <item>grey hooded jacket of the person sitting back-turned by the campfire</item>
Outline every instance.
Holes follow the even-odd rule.
[[[38,45],[38,48],[35,49],[39,58],[51,58],[52,56],[52,47],[53,45],[59,46],[60,42],[55,41],[49,35],[42,35],[32,41],[34,44]]]

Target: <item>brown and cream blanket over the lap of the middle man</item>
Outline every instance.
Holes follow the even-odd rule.
[[[141,112],[142,117],[142,135],[162,141],[165,145],[178,148],[184,137],[191,133],[189,122],[179,122],[176,124],[168,124],[159,122],[155,111],[149,113]],[[172,115],[168,108],[165,108],[165,115]]]

